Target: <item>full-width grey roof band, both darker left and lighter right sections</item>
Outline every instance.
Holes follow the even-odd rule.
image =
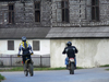
[[[0,39],[21,39],[22,36],[26,36],[28,39],[109,37],[109,26],[0,28]]]

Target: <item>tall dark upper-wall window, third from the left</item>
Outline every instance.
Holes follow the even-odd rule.
[[[62,22],[69,22],[69,0],[62,0]]]

